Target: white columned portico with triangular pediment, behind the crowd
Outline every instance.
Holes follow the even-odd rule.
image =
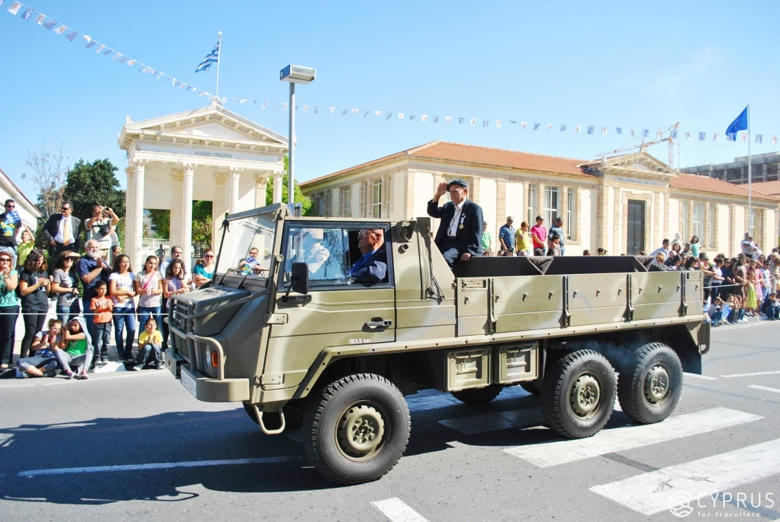
[[[141,122],[129,118],[119,135],[127,151],[125,250],[141,266],[144,209],[171,211],[171,242],[192,254],[193,200],[212,202],[214,233],[225,213],[264,206],[266,187],[282,201],[283,158],[287,139],[222,108],[180,112]]]

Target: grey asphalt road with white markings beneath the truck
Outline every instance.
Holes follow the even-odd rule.
[[[777,322],[713,330],[670,418],[631,425],[616,406],[580,441],[519,388],[482,408],[407,397],[404,457],[349,487],[310,467],[300,431],[264,436],[167,371],[0,380],[0,520],[775,520],[778,338]]]

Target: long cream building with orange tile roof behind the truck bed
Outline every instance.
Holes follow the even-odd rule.
[[[663,238],[693,235],[704,251],[732,254],[750,222],[744,185],[681,174],[645,150],[582,160],[436,141],[300,187],[321,216],[403,220],[426,215],[436,185],[453,178],[469,182],[494,238],[507,215],[516,227],[564,217],[567,256],[650,252]],[[780,198],[753,191],[752,234],[767,252],[778,242],[778,210]]]

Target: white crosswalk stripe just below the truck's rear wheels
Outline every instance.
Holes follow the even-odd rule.
[[[537,467],[550,467],[576,460],[616,453],[686,436],[700,435],[716,429],[757,421],[763,417],[716,407],[667,418],[658,424],[631,425],[603,429],[589,439],[556,440],[527,446],[512,446],[504,451],[527,460]]]

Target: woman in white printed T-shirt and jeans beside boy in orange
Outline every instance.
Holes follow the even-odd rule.
[[[136,339],[136,276],[130,266],[130,258],[120,254],[114,259],[114,271],[108,276],[108,294],[114,300],[114,340],[120,361],[133,361],[133,341]],[[125,330],[127,330],[125,332]],[[122,333],[125,338],[122,339]]]

